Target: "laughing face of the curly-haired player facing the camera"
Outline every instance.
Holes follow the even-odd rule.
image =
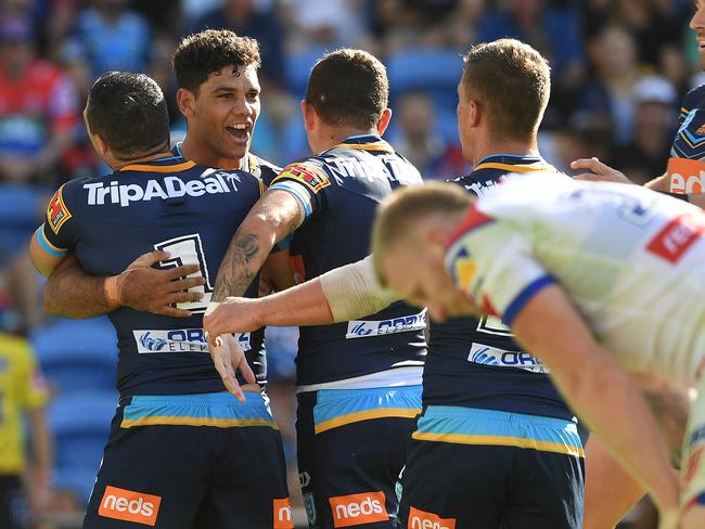
[[[259,116],[259,92],[253,65],[226,66],[198,87],[189,124],[197,131],[190,132],[197,133],[198,143],[209,151],[209,157],[219,160],[217,167],[232,168],[233,160],[247,153]]]

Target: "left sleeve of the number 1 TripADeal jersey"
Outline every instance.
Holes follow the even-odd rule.
[[[64,257],[74,246],[76,217],[69,198],[69,184],[64,184],[49,201],[44,222],[37,230],[37,242],[43,251]]]

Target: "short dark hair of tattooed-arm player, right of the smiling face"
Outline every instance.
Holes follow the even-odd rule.
[[[328,125],[374,128],[389,102],[387,70],[367,51],[326,53],[311,70],[306,102]]]

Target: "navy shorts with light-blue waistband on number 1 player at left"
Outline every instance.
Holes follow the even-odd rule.
[[[245,396],[120,403],[84,528],[293,529],[279,429],[264,397]]]

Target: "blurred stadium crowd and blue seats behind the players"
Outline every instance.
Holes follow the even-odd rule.
[[[598,156],[643,182],[665,169],[681,98],[705,82],[688,28],[692,12],[692,0],[0,0],[0,351],[11,335],[27,337],[53,395],[53,493],[30,506],[80,511],[100,453],[93,461],[95,449],[86,441],[82,453],[90,455],[80,465],[70,459],[81,442],[70,436],[87,426],[67,417],[72,405],[91,400],[77,391],[103,391],[112,404],[97,404],[102,423],[93,444],[100,444],[115,400],[110,325],[50,321],[41,311],[41,280],[24,251],[57,185],[108,171],[81,119],[98,75],[121,69],[156,79],[178,141],[185,126],[170,69],[177,42],[208,27],[254,37],[262,56],[262,111],[253,152],[286,164],[308,154],[298,101],[310,67],[325,51],[363,48],[387,66],[394,117],[386,138],[424,178],[439,179],[470,170],[456,125],[462,54],[473,43],[509,36],[551,63],[552,96],[540,133],[548,162],[569,173],[571,160]],[[67,338],[70,333],[85,339]],[[72,354],[72,348],[80,351]],[[274,413],[294,465],[296,331],[270,330],[268,351]],[[100,364],[84,374],[92,383],[65,375],[66,358],[84,367]],[[61,437],[66,431],[68,441]]]

